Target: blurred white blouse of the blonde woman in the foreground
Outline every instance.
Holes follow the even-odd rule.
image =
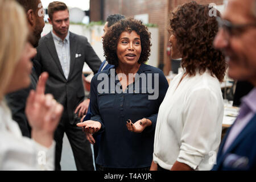
[[[23,137],[5,101],[0,102],[0,170],[53,170],[55,142],[46,148]]]

